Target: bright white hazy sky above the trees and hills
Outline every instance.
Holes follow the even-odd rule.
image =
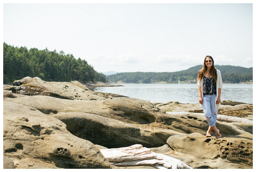
[[[4,4],[3,41],[73,54],[98,72],[252,67],[252,4]]]

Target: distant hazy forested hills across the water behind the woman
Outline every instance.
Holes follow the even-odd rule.
[[[197,65],[184,71],[177,72],[124,72],[108,75],[110,83],[196,83],[196,75],[203,65]],[[252,68],[230,65],[215,65],[221,72],[223,83],[240,83],[252,80]]]

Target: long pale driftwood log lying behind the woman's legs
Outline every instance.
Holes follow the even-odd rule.
[[[191,112],[166,112],[166,113],[174,116],[179,116],[179,115],[183,116]],[[192,113],[192,114],[198,114],[198,115],[204,116],[204,114],[202,113]],[[227,122],[227,123],[252,123],[252,121],[248,119],[239,118],[235,116],[220,115],[220,114],[217,115],[217,120]]]

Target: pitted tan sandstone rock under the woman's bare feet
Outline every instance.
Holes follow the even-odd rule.
[[[222,138],[208,137],[191,133],[187,135],[171,136],[167,144],[177,154],[183,154],[195,160],[202,159],[212,163],[239,163],[239,168],[252,168],[252,134],[227,136]],[[200,161],[199,161],[200,162]],[[192,168],[229,168],[211,163],[191,163]],[[236,167],[237,167],[236,166]]]

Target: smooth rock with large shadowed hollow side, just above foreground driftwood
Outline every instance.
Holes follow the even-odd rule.
[[[148,125],[134,125],[99,115],[79,112],[61,112],[52,115],[67,125],[67,130],[79,138],[108,148],[141,144],[162,146],[173,135],[183,134]]]

